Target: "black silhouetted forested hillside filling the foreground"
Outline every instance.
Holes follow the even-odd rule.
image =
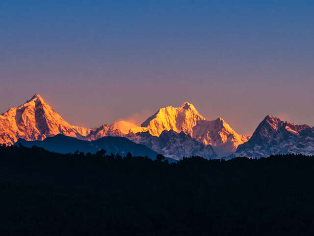
[[[312,235],[314,157],[183,159],[0,147],[0,234]]]

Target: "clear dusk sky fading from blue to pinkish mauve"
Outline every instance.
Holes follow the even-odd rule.
[[[58,2],[0,1],[0,113],[38,92],[89,127],[184,101],[238,133],[314,126],[314,1]]]

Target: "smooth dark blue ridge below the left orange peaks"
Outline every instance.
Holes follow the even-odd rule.
[[[107,154],[112,152],[113,154],[118,153],[121,156],[126,156],[128,152],[131,152],[133,156],[148,156],[151,159],[155,159],[158,154],[144,145],[135,144],[127,138],[122,137],[103,137],[89,142],[58,134],[54,137],[48,137],[43,141],[19,139],[16,142],[16,145],[18,144],[22,144],[25,147],[37,146],[58,153],[74,153],[76,150],[84,153],[96,153],[98,150],[104,149]]]

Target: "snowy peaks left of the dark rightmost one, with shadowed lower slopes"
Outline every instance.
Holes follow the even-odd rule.
[[[0,115],[0,144],[13,145],[20,138],[42,141],[57,134],[88,141],[107,136],[126,137],[174,159],[192,155],[217,158],[234,152],[247,141],[247,137],[235,133],[222,118],[206,120],[188,102],[180,107],[160,108],[141,127],[125,120],[95,129],[71,125],[39,94]]]

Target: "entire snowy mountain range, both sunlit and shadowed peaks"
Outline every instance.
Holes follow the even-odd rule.
[[[125,120],[98,128],[74,126],[39,94],[0,115],[0,144],[13,145],[19,139],[43,141],[58,134],[88,141],[89,145],[103,137],[124,137],[174,159],[192,155],[209,159],[314,154],[314,128],[308,125],[267,116],[251,138],[236,133],[223,118],[207,120],[188,102],[180,107],[160,108],[141,126]]]

